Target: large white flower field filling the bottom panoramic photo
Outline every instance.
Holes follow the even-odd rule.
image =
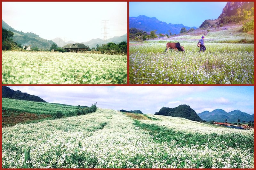
[[[253,168],[254,133],[97,108],[88,115],[4,127],[2,168],[23,167]]]

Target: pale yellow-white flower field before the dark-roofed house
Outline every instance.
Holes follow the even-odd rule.
[[[2,52],[3,84],[126,84],[127,56]]]

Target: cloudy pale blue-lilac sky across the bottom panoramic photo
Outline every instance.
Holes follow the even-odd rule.
[[[253,86],[9,86],[47,102],[68,105],[98,104],[115,110],[159,111],[162,107],[189,105],[196,113],[220,108],[254,113]]]

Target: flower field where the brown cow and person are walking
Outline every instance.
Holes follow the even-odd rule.
[[[177,42],[177,41],[172,41]],[[130,42],[130,84],[254,84],[254,44],[180,42],[185,52],[165,52],[167,41]]]

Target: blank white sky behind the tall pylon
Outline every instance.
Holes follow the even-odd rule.
[[[2,19],[12,28],[52,40],[85,42],[127,33],[127,2],[2,2]]]

